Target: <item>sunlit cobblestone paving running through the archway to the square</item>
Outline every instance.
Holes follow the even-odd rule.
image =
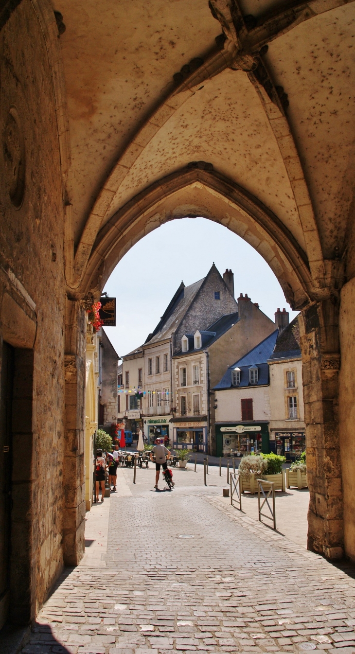
[[[65,571],[23,654],[355,653],[350,568],[239,513],[217,475],[155,492],[152,468],[118,473],[107,551]]]

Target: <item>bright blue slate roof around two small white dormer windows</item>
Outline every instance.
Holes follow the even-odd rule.
[[[242,356],[238,361],[229,366],[226,373],[224,373],[221,381],[214,387],[214,390],[223,390],[226,388],[245,388],[247,386],[257,387],[265,386],[269,383],[269,366],[267,360],[270,358],[275,347],[279,330],[275,330],[270,336],[267,336],[261,343],[253,347],[250,352]],[[250,384],[249,382],[249,368],[256,366],[258,368],[258,383]],[[241,383],[238,387],[231,384],[231,372],[234,368],[239,368],[241,371]]]

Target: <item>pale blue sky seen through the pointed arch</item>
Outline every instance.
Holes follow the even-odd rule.
[[[234,273],[235,298],[248,294],[269,318],[291,311],[277,278],[262,256],[219,223],[206,218],[172,220],[144,236],[120,260],[105,291],[116,301],[116,327],[105,327],[119,356],[142,345],[180,286],[205,277],[212,263]],[[198,326],[196,326],[198,328]]]

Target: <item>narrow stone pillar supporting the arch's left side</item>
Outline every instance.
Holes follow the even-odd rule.
[[[84,555],[85,310],[77,300],[65,307],[65,440],[63,560],[76,566]]]

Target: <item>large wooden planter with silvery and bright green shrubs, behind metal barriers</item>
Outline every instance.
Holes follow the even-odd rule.
[[[284,471],[282,463],[284,456],[271,454],[243,456],[238,472],[241,478],[241,492],[248,490],[250,493],[258,492],[256,479],[273,481],[275,490],[286,490]],[[265,484],[265,490],[268,486]]]

